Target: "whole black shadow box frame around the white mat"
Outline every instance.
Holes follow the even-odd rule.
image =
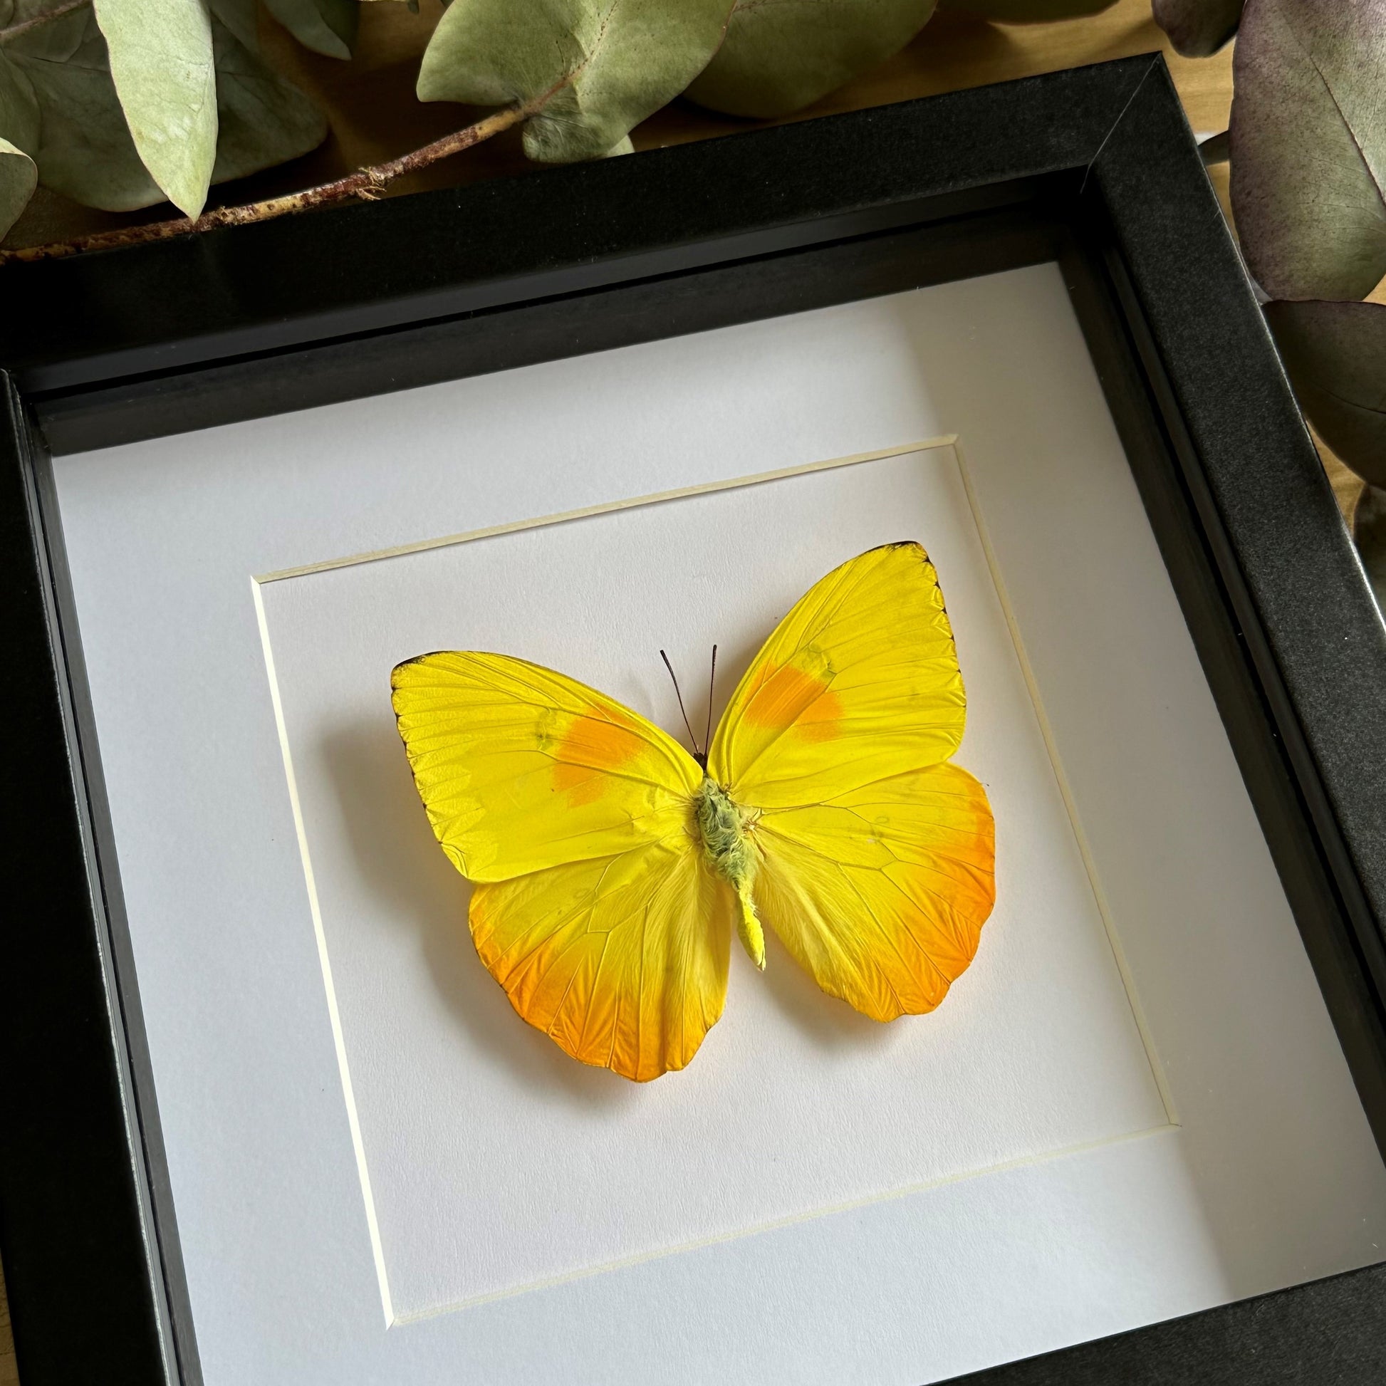
[[[201,1380],[49,459],[1044,261],[1386,1149],[1386,626],[1164,64],[1128,58],[0,272],[24,1386]],[[966,1379],[1379,1383],[1386,1264]]]

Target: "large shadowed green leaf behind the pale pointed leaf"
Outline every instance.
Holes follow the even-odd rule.
[[[18,8],[18,7],[17,7]],[[218,143],[213,183],[306,154],[327,122],[297,87],[276,76],[238,33],[254,35],[254,0],[213,0]],[[130,136],[107,43],[90,8],[26,29],[4,47],[29,79],[42,128],[30,150],[39,182],[89,207],[133,211],[164,201]]]

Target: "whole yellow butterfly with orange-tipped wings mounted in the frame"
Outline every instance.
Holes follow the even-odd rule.
[[[933,1010],[972,962],[995,830],[948,761],[966,697],[918,543],[815,584],[705,754],[505,654],[423,654],[391,686],[481,960],[584,1063],[682,1069],[722,1015],[733,919],[758,967],[764,919],[875,1020]]]

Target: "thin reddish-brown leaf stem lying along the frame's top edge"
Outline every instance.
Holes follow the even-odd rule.
[[[86,4],[87,0],[80,0]],[[560,83],[561,85],[561,83]],[[216,207],[201,216],[179,216],[170,222],[146,222],[141,226],[122,226],[112,231],[96,231],[91,236],[78,236],[71,241],[53,241],[49,245],[26,245],[21,249],[0,249],[0,265],[11,261],[39,261],[55,259],[62,255],[78,255],[83,251],[114,249],[119,245],[139,245],[146,241],[166,241],[175,236],[188,236],[198,231],[216,230],[220,226],[245,226],[251,222],[267,222],[276,216],[286,216],[290,212],[305,212],[313,207],[324,207],[331,202],[342,202],[358,197],[374,201],[381,197],[385,188],[405,173],[414,173],[445,159],[450,154],[460,154],[470,150],[482,140],[489,140],[492,134],[509,130],[510,126],[527,121],[543,108],[549,97],[557,87],[541,96],[532,97],[520,105],[507,105],[503,111],[496,111],[475,125],[468,125],[452,134],[445,134],[432,144],[426,144],[420,150],[402,154],[398,159],[384,164],[374,164],[370,168],[358,169],[345,177],[333,179],[330,183],[319,183],[316,187],[306,187],[298,193],[287,193],[283,197],[265,198],[262,202],[245,202],[240,207]]]

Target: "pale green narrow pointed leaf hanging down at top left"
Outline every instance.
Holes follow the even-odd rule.
[[[94,0],[111,78],[134,148],[186,216],[197,216],[216,159],[212,21],[202,0]]]

